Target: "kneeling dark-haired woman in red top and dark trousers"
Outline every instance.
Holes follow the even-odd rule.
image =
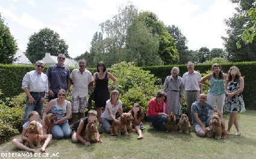
[[[165,92],[158,92],[156,97],[150,99],[146,114],[147,119],[152,123],[153,128],[160,131],[166,130],[165,121],[168,115],[164,113],[165,96]]]

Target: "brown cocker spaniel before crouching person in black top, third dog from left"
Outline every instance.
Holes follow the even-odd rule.
[[[98,136],[97,123],[95,121],[89,121],[86,125],[85,140],[90,143],[97,143],[100,140]]]

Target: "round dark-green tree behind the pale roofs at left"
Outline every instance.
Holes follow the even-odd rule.
[[[51,55],[64,54],[68,55],[68,45],[57,32],[50,30],[50,28],[43,28],[39,32],[32,34],[29,37],[26,55],[31,63],[41,60],[45,56],[45,52]]]

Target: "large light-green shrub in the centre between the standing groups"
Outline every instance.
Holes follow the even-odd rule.
[[[129,111],[137,102],[146,113],[149,99],[162,87],[155,86],[157,78],[147,70],[135,67],[133,63],[114,64],[109,71],[118,79],[115,89],[120,92],[124,112]]]

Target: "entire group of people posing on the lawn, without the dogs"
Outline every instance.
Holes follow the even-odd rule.
[[[26,129],[31,121],[39,121],[39,116],[42,116],[42,124],[38,123],[40,128],[39,139],[45,140],[40,151],[45,152],[45,148],[50,143],[52,138],[63,139],[72,136],[72,142],[81,142],[84,145],[90,145],[85,140],[85,129],[89,120],[100,122],[100,130],[104,133],[110,133],[110,125],[114,122],[121,124],[115,117],[117,111],[123,113],[122,102],[119,100],[119,92],[109,90],[117,83],[117,78],[110,72],[106,71],[106,65],[103,62],[97,64],[97,72],[92,75],[86,69],[85,59],[78,61],[79,69],[74,69],[70,73],[68,67],[64,65],[65,55],[59,54],[57,57],[58,63],[50,66],[46,73],[43,73],[45,64],[43,61],[37,61],[35,70],[26,73],[22,81],[22,89],[27,95],[26,107],[23,117],[23,131],[21,139],[13,139],[13,144],[20,149],[34,152],[24,145],[28,139]],[[237,113],[245,111],[243,98],[243,77],[237,67],[233,66],[229,69],[228,75],[222,73],[221,67],[214,64],[212,67],[213,73],[201,78],[199,72],[194,70],[194,64],[188,62],[188,72],[182,78],[179,75],[179,68],[173,67],[171,75],[167,76],[162,92],[158,92],[155,98],[150,99],[147,109],[147,119],[150,121],[154,129],[165,131],[166,117],[170,112],[173,112],[176,119],[181,116],[181,99],[185,90],[185,101],[188,107],[188,117],[190,122],[193,122],[196,127],[196,132],[199,136],[203,136],[205,126],[210,119],[211,111],[217,111],[222,117],[222,109],[225,103],[225,110],[230,112],[228,133],[231,126],[237,128],[237,135],[240,135],[238,126]],[[227,80],[225,80],[227,78]],[[113,81],[109,84],[109,79]],[[210,83],[206,83],[210,80]],[[226,81],[226,84],[224,84]],[[72,100],[66,100],[69,95],[70,86],[73,84]],[[210,86],[210,91],[207,96],[202,93],[202,84]],[[85,106],[88,96],[88,87],[94,87],[93,96],[95,101],[95,110],[90,110],[88,116],[85,117]],[[42,112],[43,103],[48,93],[48,104]],[[226,94],[226,98],[225,98]],[[226,101],[225,101],[226,100]],[[217,103],[217,109],[214,104]],[[101,108],[105,107],[102,113]],[[56,116],[56,122],[51,127],[51,133],[43,135],[42,129],[45,128],[45,117],[48,113],[53,113]],[[138,139],[142,139],[142,111],[139,104],[134,104],[130,113],[133,115],[133,128],[138,134]],[[68,119],[71,119],[69,125]],[[78,117],[78,118],[77,118]],[[222,117],[223,119],[223,117]],[[223,120],[222,120],[223,122]],[[100,135],[97,134],[97,142],[101,143]]]

